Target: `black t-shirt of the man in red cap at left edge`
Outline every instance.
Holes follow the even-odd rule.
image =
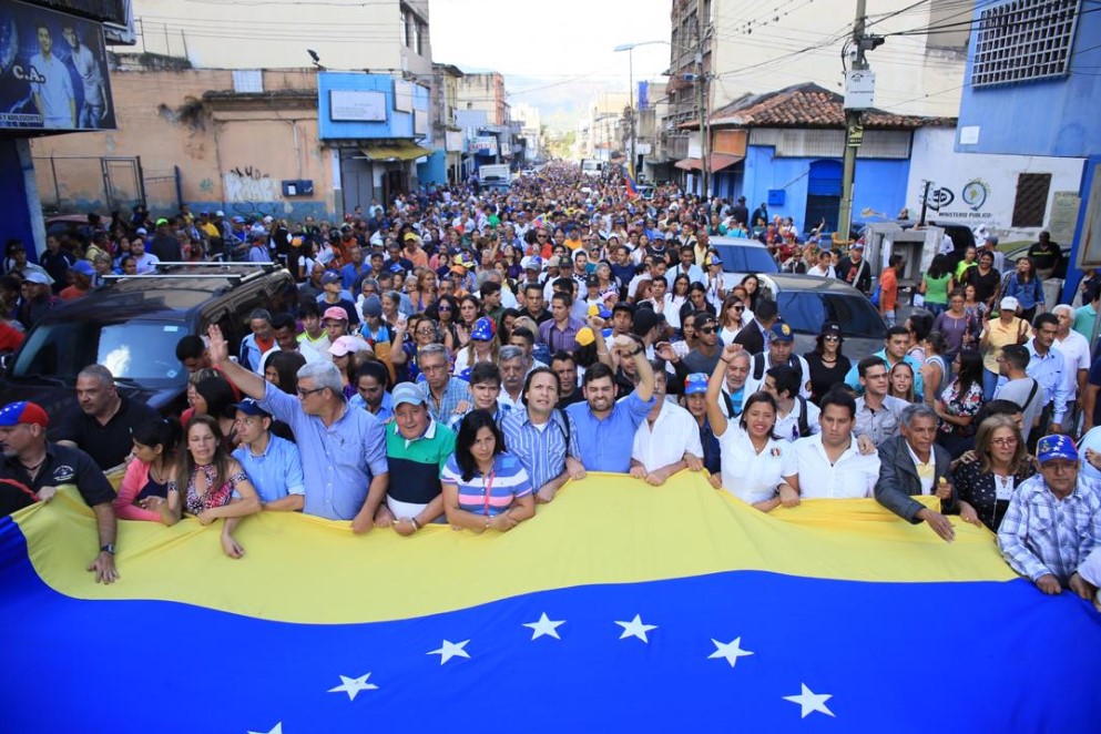
[[[19,482],[32,492],[38,492],[43,487],[77,485],[84,503],[89,507],[111,502],[115,497],[111,482],[92,461],[92,457],[80,449],[57,444],[45,445],[45,462],[33,481],[23,465],[13,456],[0,458],[0,479]],[[20,487],[7,481],[0,482],[0,518],[33,503],[34,498]]]

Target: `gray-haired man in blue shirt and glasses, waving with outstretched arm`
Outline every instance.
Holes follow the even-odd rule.
[[[389,487],[386,436],[374,414],[349,409],[336,365],[314,361],[299,369],[295,398],[232,361],[217,326],[210,338],[214,368],[294,431],[306,478],[303,511],[353,520],[355,532],[370,530]]]

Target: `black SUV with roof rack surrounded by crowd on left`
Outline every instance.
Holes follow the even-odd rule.
[[[34,400],[59,417],[75,405],[77,374],[108,367],[119,391],[161,412],[186,407],[187,373],[176,343],[222,327],[236,354],[254,308],[286,310],[294,281],[282,265],[160,264],[153,273],[110,277],[102,288],[51,309],[6,360],[0,405]]]

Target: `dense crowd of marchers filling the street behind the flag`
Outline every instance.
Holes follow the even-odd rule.
[[[155,220],[152,236],[95,228],[96,273],[282,261],[296,306],[249,314],[232,349],[216,326],[183,337],[179,417],[126,399],[100,365],[81,371],[71,414],[4,407],[0,514],[75,483],[99,522],[90,570],[110,582],[116,518],[222,520],[223,550],[238,558],[234,531],[256,512],[350,521],[357,533],[504,532],[590,471],[655,486],[705,471],[765,512],[874,497],[948,542],[958,516],[997,533],[1007,562],[1042,591],[1094,598],[1101,436],[1080,449],[1072,435],[1079,419],[1092,428],[1101,389],[1090,346],[1101,288],[1090,286],[1090,305],[1047,313],[1042,294],[1023,299],[1034,264],[1003,287],[987,243],[950,274],[935,262],[928,308],[891,325],[880,351],[850,358],[845,326],[830,322],[799,355],[765,281],[728,282],[711,237],[757,236],[784,266],[812,252],[820,268],[808,274],[865,293],[870,266],[859,243],[835,257],[816,234],[799,242],[791,222],[760,215],[673,186],[643,201],[552,164],[508,192],[374,202],[338,227],[226,226],[221,212],[185,211]],[[31,266],[9,246],[4,277],[23,278],[3,299],[17,307],[9,320],[28,314],[32,325],[51,307],[35,306],[41,297],[55,297],[50,282],[86,269],[62,271],[55,247],[88,256],[55,242]],[[893,320],[886,272],[875,295]],[[94,287],[94,274],[81,283]],[[118,493],[104,471],[122,473]]]

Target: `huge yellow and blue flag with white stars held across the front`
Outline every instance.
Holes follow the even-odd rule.
[[[1101,615],[993,538],[694,475],[568,486],[508,534],[0,520],[0,731],[1097,732]]]

